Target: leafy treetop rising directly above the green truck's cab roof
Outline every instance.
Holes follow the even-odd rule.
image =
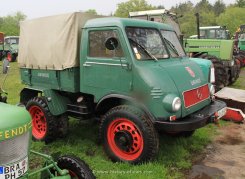
[[[156,9],[156,8],[148,4],[146,0],[129,0],[127,2],[122,2],[117,4],[117,10],[115,12],[115,16],[128,17],[129,12],[151,10],[151,9]]]

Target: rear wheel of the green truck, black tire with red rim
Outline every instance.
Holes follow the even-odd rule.
[[[57,119],[50,113],[45,98],[32,98],[27,102],[26,109],[32,117],[33,139],[45,143],[52,142],[57,137]]]

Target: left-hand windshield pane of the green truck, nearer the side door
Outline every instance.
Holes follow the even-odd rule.
[[[137,60],[159,60],[169,57],[157,29],[127,27],[126,34]]]

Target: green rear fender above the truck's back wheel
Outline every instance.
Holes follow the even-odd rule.
[[[20,102],[26,105],[30,99],[38,96],[39,93],[44,95],[52,115],[58,116],[66,112],[69,99],[51,89],[26,87],[20,92]]]

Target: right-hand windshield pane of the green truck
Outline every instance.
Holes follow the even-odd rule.
[[[185,52],[175,32],[161,30],[161,33],[166,41],[171,57],[185,56]]]

